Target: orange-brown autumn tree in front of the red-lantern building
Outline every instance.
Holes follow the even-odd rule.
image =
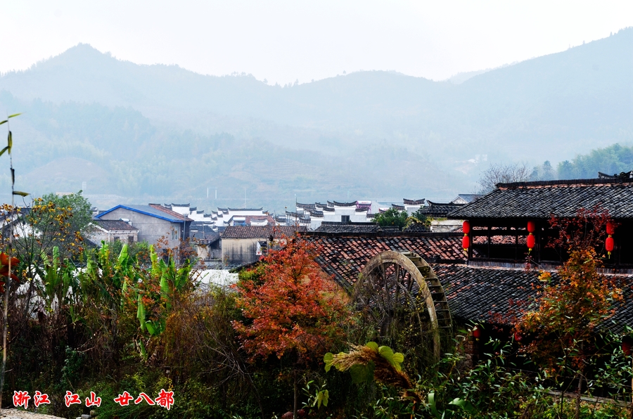
[[[515,326],[523,351],[553,373],[562,373],[565,364],[583,370],[596,352],[596,328],[615,313],[622,290],[599,273],[602,266],[596,248],[603,243],[608,214],[580,210],[575,219],[552,219],[560,228],[556,245],[567,247],[569,259],[558,270],[558,281],[542,272],[538,307],[523,314]]]

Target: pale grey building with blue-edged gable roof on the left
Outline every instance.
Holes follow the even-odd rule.
[[[159,204],[117,205],[94,217],[99,220],[122,220],[138,228],[139,241],[155,245],[165,240],[168,247],[176,247],[180,240],[189,238],[192,219]]]

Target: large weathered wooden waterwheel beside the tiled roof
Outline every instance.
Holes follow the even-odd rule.
[[[354,285],[354,302],[384,340],[412,337],[435,360],[452,337],[452,321],[442,284],[414,252],[386,251],[369,259]]]

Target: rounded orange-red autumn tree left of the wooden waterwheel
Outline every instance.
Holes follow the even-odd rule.
[[[237,283],[245,321],[234,328],[251,360],[293,354],[297,363],[318,359],[345,336],[348,298],[314,262],[314,245],[290,238]]]

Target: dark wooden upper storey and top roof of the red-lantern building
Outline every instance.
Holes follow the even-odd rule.
[[[608,269],[633,269],[633,179],[598,179],[499,183],[497,189],[465,205],[448,217],[468,221],[471,227],[468,264],[511,266],[530,259],[539,266],[559,265],[564,250],[548,246],[558,237],[554,217],[573,218],[578,209],[608,212],[618,225],[615,249],[605,257]],[[535,245],[528,249],[528,222],[535,226]],[[604,247],[597,249],[607,254]]]

